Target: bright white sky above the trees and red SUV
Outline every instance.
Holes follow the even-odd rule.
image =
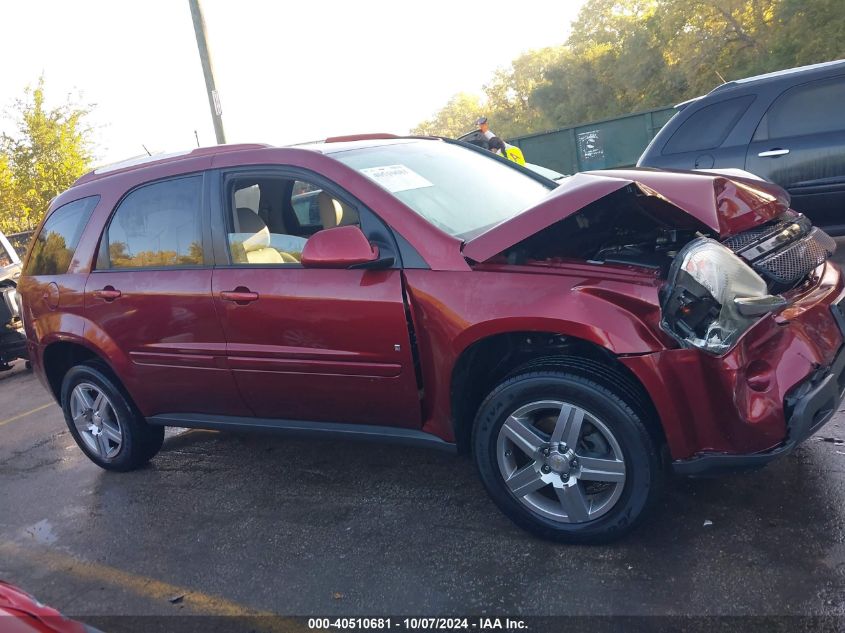
[[[520,53],[564,43],[584,0],[201,2],[227,142],[287,145],[407,133]],[[98,163],[195,147],[195,130],[214,144],[187,0],[11,0],[2,11],[0,131],[43,73],[48,105],[95,104]]]

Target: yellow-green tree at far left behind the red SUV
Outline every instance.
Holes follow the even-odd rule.
[[[15,101],[14,134],[0,136],[0,230],[35,227],[50,200],[89,169],[91,129],[88,108],[67,101],[45,105],[44,78]]]

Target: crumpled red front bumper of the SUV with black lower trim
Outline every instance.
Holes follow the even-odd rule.
[[[753,469],[833,415],[845,364],[845,279],[819,267],[789,307],[763,317],[723,356],[667,349],[620,360],[641,381],[682,474]]]

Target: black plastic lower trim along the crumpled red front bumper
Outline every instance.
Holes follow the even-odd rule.
[[[838,306],[833,306],[834,311]],[[838,321],[838,319],[837,319]],[[840,327],[845,326],[845,322]],[[751,455],[701,455],[672,463],[674,471],[687,477],[711,477],[762,468],[791,453],[796,446],[823,427],[845,397],[845,345],[830,367],[819,369],[799,383],[784,403],[787,435],[781,446]]]

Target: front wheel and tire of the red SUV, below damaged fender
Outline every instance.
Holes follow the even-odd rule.
[[[547,539],[602,543],[632,530],[662,489],[660,453],[607,374],[527,368],[484,400],[473,427],[482,482],[517,525]]]

